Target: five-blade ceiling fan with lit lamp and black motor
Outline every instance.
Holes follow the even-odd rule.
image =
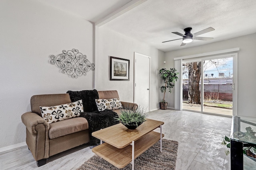
[[[183,46],[183,45],[186,45],[186,43],[191,43],[193,41],[193,39],[196,39],[196,40],[203,40],[203,41],[208,41],[208,40],[211,40],[213,38],[210,38],[210,37],[196,37],[197,35],[201,35],[201,34],[204,34],[204,33],[208,33],[210,31],[214,31],[215,29],[212,28],[212,27],[209,27],[209,28],[206,28],[206,29],[203,29],[201,31],[198,31],[194,34],[192,34],[190,31],[192,30],[192,27],[187,27],[184,29],[184,34],[182,33],[179,33],[179,32],[172,32],[176,35],[180,35],[182,36],[183,38],[179,38],[179,39],[182,39],[182,43],[180,46]],[[173,40],[169,40],[169,41],[174,41],[174,40],[178,40],[178,39],[173,39]],[[162,43],[166,43],[166,42],[169,42],[169,41],[164,41]]]

